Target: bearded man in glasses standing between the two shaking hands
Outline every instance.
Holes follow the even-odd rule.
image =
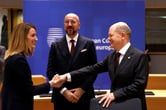
[[[66,35],[52,43],[47,65],[48,79],[55,74],[64,74],[97,62],[94,42],[79,34],[78,15],[69,13],[64,18]],[[73,47],[72,42],[74,40]],[[66,82],[53,88],[52,102],[55,110],[89,110],[90,99],[95,97],[93,82],[96,75],[85,80]],[[74,101],[73,101],[74,100]]]

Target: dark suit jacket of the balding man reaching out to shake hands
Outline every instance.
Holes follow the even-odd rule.
[[[93,66],[71,72],[72,81],[84,78],[90,74],[109,72],[112,81],[111,91],[116,100],[139,97],[146,110],[144,89],[148,78],[148,60],[144,52],[130,46],[120,65],[114,72],[115,51],[102,62]],[[78,74],[79,73],[79,74]]]

